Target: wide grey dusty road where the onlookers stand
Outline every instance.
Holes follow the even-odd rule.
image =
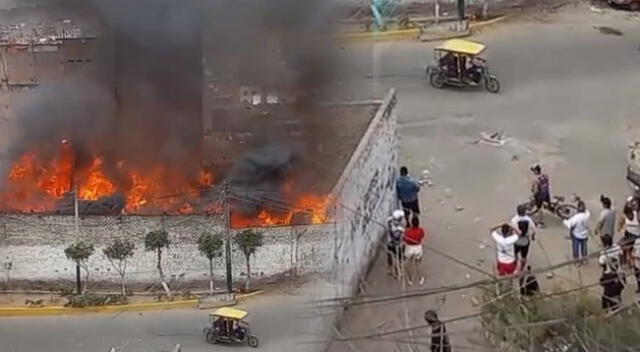
[[[601,193],[622,200],[628,192],[624,181],[627,143],[640,137],[640,18],[625,12],[592,13],[587,6],[565,9],[545,23],[518,22],[486,30],[477,40],[489,45],[487,58],[502,82],[503,92],[429,87],[424,65],[431,60],[433,44],[385,43],[347,47],[353,58],[350,71],[369,75],[363,95],[379,95],[398,88],[401,160],[416,176],[429,169],[435,186],[422,192],[429,234],[428,245],[463,261],[426,251],[429,276],[426,287],[466,283],[491,272],[494,251],[487,229],[506,220],[516,204],[527,199],[528,166],[541,161],[551,174],[555,193],[580,194],[594,213],[599,213]],[[593,28],[618,28],[623,36],[603,35]],[[502,129],[513,141],[496,148],[473,144],[482,131]],[[515,158],[514,158],[515,156]],[[464,206],[461,212],[457,205]],[[547,266],[569,258],[566,230],[548,219],[532,249],[532,265]],[[483,244],[484,242],[484,244]],[[595,240],[592,249],[599,244]],[[367,293],[401,291],[385,275],[380,261],[373,270]],[[582,269],[556,272],[542,279],[544,289],[557,285],[596,282],[593,263]],[[632,290],[628,290],[632,291]],[[629,292],[630,293],[630,292]],[[468,290],[437,297],[413,299],[403,304],[352,309],[346,335],[422,324],[427,308],[445,318],[473,312]],[[449,326],[453,344],[477,348],[477,335],[464,333],[473,321]],[[334,344],[332,351],[420,351],[424,346],[399,342],[426,342],[426,331],[376,341],[356,341],[351,346]]]

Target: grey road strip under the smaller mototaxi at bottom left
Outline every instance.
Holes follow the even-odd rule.
[[[296,291],[300,293],[300,291]],[[284,292],[251,298],[238,308],[251,313],[248,321],[260,339],[259,351],[313,351],[308,319],[298,309],[300,296]],[[248,346],[207,345],[202,328],[207,311],[183,309],[161,312],[92,314],[0,320],[1,352],[124,352],[171,351],[175,344],[183,352],[256,351]],[[312,327],[311,327],[312,329]],[[317,340],[317,338],[315,338]]]

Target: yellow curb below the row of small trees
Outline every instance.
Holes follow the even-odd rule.
[[[263,293],[262,290],[238,295],[237,301],[257,296]],[[25,308],[25,307],[0,307],[0,317],[33,317],[33,316],[56,316],[56,315],[78,315],[93,313],[122,313],[122,312],[140,312],[148,310],[169,310],[197,308],[199,301],[197,299],[176,301],[176,302],[150,302],[137,303],[118,306],[102,306],[87,308],[67,308],[67,307],[41,307],[41,308]]]

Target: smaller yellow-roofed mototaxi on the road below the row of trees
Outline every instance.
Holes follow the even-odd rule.
[[[209,314],[210,326],[204,328],[204,338],[210,344],[229,343],[241,344],[246,342],[249,347],[258,347],[258,338],[251,333],[249,323],[243,319],[249,313],[223,307]]]

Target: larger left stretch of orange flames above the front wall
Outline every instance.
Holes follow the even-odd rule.
[[[63,143],[58,155],[50,161],[40,159],[36,152],[30,151],[15,162],[9,171],[6,189],[0,190],[2,209],[51,211],[55,209],[57,200],[71,195],[77,186],[80,200],[93,201],[116,193],[124,194],[125,211],[130,214],[139,213],[145,207],[149,207],[149,211],[191,214],[193,207],[178,198],[193,198],[202,188],[211,187],[214,180],[213,173],[202,170],[194,182],[179,178],[182,182],[168,184],[166,180],[172,179],[168,168],[131,171],[121,160],[114,170],[119,173],[121,184],[118,184],[105,174],[104,161],[100,156],[94,156],[88,167],[79,169],[69,143]]]

